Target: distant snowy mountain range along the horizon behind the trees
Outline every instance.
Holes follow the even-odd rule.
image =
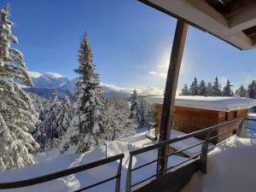
[[[70,79],[59,73],[38,73],[29,72],[33,87],[24,87],[24,90],[49,98],[54,90],[58,90],[61,98],[64,96],[72,97],[75,90],[77,79]],[[130,96],[135,88],[123,88],[114,84],[101,83],[105,96]],[[163,90],[154,87],[138,87],[136,88],[139,96],[162,96]]]

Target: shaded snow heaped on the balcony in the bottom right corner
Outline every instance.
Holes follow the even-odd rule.
[[[207,174],[196,172],[183,192],[254,192],[256,140],[230,137],[208,154]]]

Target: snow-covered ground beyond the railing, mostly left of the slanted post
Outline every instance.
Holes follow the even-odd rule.
[[[123,160],[122,165],[122,177],[121,177],[121,191],[125,191],[125,178],[129,161],[129,151],[136,148],[146,147],[153,142],[145,137],[145,130],[141,129],[141,133],[136,133],[131,137],[123,139],[124,142],[108,142],[107,143],[107,152],[108,156],[114,154],[125,154],[125,159]],[[6,171],[0,172],[0,181],[2,182],[11,182],[15,180],[23,180],[31,177],[39,177],[47,173],[61,171],[73,166],[80,166],[87,164],[95,160],[101,160],[105,158],[105,146],[95,148],[94,150],[85,153],[85,154],[62,154],[57,155],[55,151],[49,151],[46,154],[38,154],[36,156],[38,163],[33,166],[27,166],[26,168],[21,168],[15,171]],[[155,160],[157,158],[157,150],[148,151],[144,154],[139,154],[133,159],[132,167],[140,166],[144,163],[147,163],[150,160]],[[184,157],[173,155],[169,158],[168,166],[174,166],[178,162],[186,160]],[[2,191],[26,191],[26,192],[57,192],[57,191],[73,191],[90,185],[92,183],[99,182],[108,177],[113,177],[118,168],[118,162],[112,162],[108,165],[99,166],[94,169],[80,172],[78,174],[73,174],[68,177],[62,177],[51,181],[48,183],[42,183],[34,185],[31,187],[20,188],[20,189],[11,189],[11,190],[0,190]],[[145,177],[149,177],[155,173],[156,164],[151,164],[145,166],[139,171],[135,171],[132,174],[132,183],[139,181]],[[100,186],[97,186],[93,189],[87,191],[104,191],[104,192],[113,192],[115,180],[108,183],[104,183]]]

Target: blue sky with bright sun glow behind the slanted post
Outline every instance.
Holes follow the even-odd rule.
[[[105,84],[165,88],[177,20],[136,0],[0,0],[29,71],[75,78],[79,42],[90,38],[96,72]],[[189,26],[178,90],[194,77],[217,76],[234,88],[256,79],[256,49],[241,51]]]

